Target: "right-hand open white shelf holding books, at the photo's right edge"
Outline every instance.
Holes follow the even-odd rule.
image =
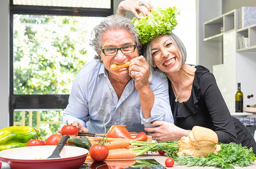
[[[240,48],[239,38],[248,37],[248,47]],[[236,31],[236,51],[237,52],[256,52],[256,24]]]

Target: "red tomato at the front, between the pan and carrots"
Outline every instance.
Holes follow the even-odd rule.
[[[108,157],[108,147],[105,145],[94,144],[89,150],[89,154],[94,161],[103,161]]]

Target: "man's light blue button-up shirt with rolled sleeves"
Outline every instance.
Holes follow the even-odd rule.
[[[148,126],[153,121],[174,123],[165,74],[154,71],[150,88],[155,95],[155,103],[151,117],[145,119],[134,80],[127,83],[118,100],[104,64],[92,60],[83,66],[74,80],[62,121],[77,121],[92,133],[104,133],[103,119],[107,131],[113,124],[126,125],[128,131],[145,132],[144,125]]]

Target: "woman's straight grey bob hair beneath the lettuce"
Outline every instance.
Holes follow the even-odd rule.
[[[166,33],[165,35],[167,35],[171,41],[173,41],[174,46],[177,48],[179,55],[180,55],[180,65],[179,65],[179,69],[182,68],[182,66],[186,63],[186,59],[187,59],[187,51],[186,51],[186,47],[184,46],[183,42],[179,39],[179,37],[177,37],[174,33]],[[145,59],[147,60],[148,64],[149,64],[149,82],[152,82],[152,69],[158,70],[161,72],[160,69],[153,68],[153,57],[151,55],[151,41],[149,41],[148,43],[146,43],[143,47],[143,56],[145,57]],[[179,69],[177,71],[179,71]]]

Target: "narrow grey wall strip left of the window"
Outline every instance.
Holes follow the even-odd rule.
[[[9,1],[0,2],[0,129],[8,127],[8,87],[9,87]]]

